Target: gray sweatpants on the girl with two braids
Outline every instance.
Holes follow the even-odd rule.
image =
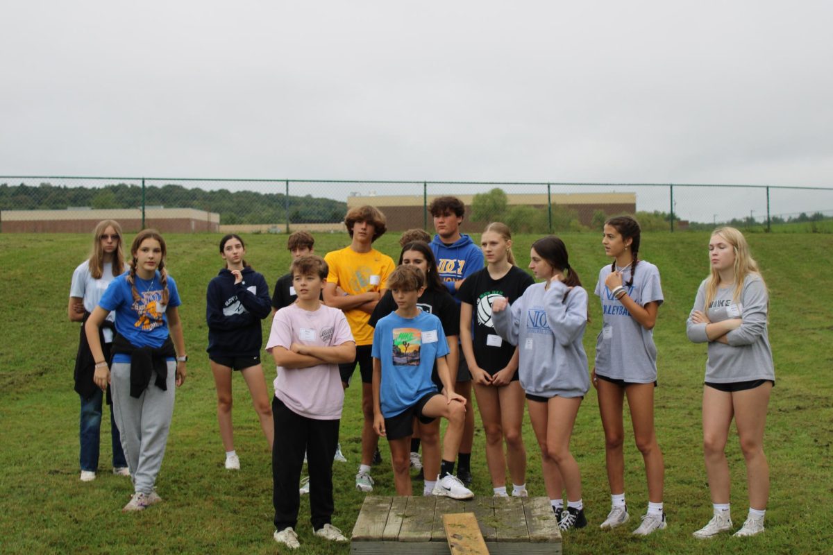
[[[173,398],[176,391],[177,363],[167,363],[167,391],[162,391],[154,382],[152,372],[150,384],[135,399],[130,396],[130,364],[112,364],[110,390],[116,425],[122,434],[122,448],[127,458],[127,467],[137,492],[151,493],[162,458],[165,456],[167,431],[173,416]]]

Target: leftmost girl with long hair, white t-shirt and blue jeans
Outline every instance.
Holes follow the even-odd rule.
[[[78,340],[78,353],[75,358],[75,391],[81,397],[81,481],[90,482],[96,478],[98,453],[102,424],[103,392],[92,382],[95,371],[95,359],[92,358],[84,324],[98,300],[107,290],[113,276],[124,271],[124,249],[122,248],[122,226],[117,221],[98,222],[92,231],[92,251],[89,258],[72,272],[72,285],[69,286],[69,306],[67,314],[71,322],[81,322],[81,337]],[[114,326],[112,318],[102,324],[98,339],[102,344],[105,357],[110,354]],[[112,472],[119,476],[130,476],[127,461],[124,460],[122,441],[119,439],[118,427],[113,419],[112,399],[107,392],[110,404],[110,440],[112,443]]]

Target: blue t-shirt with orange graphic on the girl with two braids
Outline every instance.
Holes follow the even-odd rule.
[[[159,272],[152,280],[135,279],[139,300],[133,300],[127,273],[110,282],[98,305],[104,310],[116,313],[116,331],[130,341],[134,347],[161,347],[168,336],[167,307],[182,305],[177,292],[177,283],[167,276],[167,306],[162,305],[162,283]],[[127,354],[116,354],[113,362],[130,362]]]

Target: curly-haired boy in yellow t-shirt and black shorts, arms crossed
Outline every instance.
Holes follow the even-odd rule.
[[[391,275],[394,264],[390,256],[373,248],[373,241],[387,230],[382,212],[373,206],[352,208],[344,217],[344,224],[347,225],[351,243],[324,256],[330,268],[327,285],[324,285],[324,302],[344,311],[356,339],[356,357],[347,364],[340,364],[339,370],[345,389],[350,384],[357,364],[362,374],[362,463],[356,474],[356,488],[362,492],[372,492],[370,468],[379,436],[373,431],[373,328],[368,321],[385,293],[387,277]]]

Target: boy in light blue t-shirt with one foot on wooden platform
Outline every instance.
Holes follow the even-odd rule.
[[[425,491],[455,499],[473,498],[474,493],[454,476],[466,423],[466,399],[454,393],[440,319],[416,306],[425,290],[425,275],[413,266],[401,265],[387,283],[397,310],[379,320],[373,334],[373,429],[386,436],[391,446],[397,493],[412,494],[408,469],[414,417],[424,424],[442,417],[448,420],[448,427],[440,475],[431,477],[432,481],[426,479]],[[445,394],[437,393],[431,381],[435,360]]]

